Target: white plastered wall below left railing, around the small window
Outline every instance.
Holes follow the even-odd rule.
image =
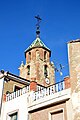
[[[2,104],[1,120],[9,120],[9,115],[18,112],[18,120],[28,119],[27,93]]]

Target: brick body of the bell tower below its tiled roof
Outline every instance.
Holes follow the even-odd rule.
[[[46,59],[44,59],[44,53],[46,51]],[[30,56],[31,54],[31,56]],[[30,66],[30,75],[27,74],[27,66]],[[50,62],[50,52],[44,48],[37,47],[26,52],[26,64],[19,68],[20,77],[31,80],[36,78],[36,82],[44,85],[44,66],[47,65],[48,79],[50,84],[55,83],[54,64]]]

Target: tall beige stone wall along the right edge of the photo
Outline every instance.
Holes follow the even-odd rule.
[[[80,120],[80,40],[68,43],[72,120]]]

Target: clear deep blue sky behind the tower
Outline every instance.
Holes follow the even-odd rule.
[[[51,61],[64,66],[59,81],[69,75],[67,42],[80,38],[80,0],[0,0],[0,70],[19,75],[24,51],[36,39],[35,15]]]

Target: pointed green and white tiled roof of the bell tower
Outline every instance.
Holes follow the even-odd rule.
[[[32,44],[25,50],[25,52],[35,47],[43,47],[47,49],[48,51],[50,51],[50,49],[40,40],[40,38],[36,38],[36,40],[32,42]]]

